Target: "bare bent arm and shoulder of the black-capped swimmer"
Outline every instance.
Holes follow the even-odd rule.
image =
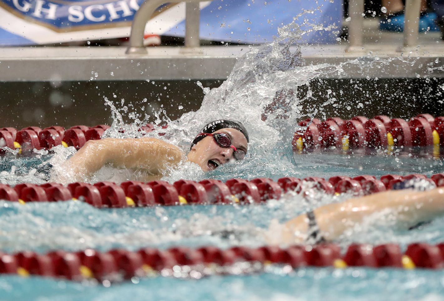
[[[147,170],[160,178],[182,157],[178,147],[152,137],[89,140],[63,163],[64,178],[70,182],[84,181],[105,164]],[[63,182],[63,175],[61,179]]]

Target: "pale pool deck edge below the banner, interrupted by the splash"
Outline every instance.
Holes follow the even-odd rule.
[[[345,72],[329,78],[414,78],[444,77],[444,41],[440,32],[421,33],[419,46],[402,49],[403,36],[381,32],[376,19],[365,20],[364,49],[347,51],[348,43],[303,45],[307,64],[337,65],[370,55],[396,59],[362,71],[346,64]],[[296,46],[293,47],[296,49]],[[248,45],[184,48],[147,48],[144,55],[125,54],[126,47],[3,47],[0,48],[0,81],[226,79],[236,59],[249,51]],[[433,68],[430,72],[428,68]]]

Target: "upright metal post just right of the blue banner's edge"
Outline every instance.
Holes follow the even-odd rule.
[[[362,51],[362,29],[364,24],[364,0],[349,1],[349,47],[347,51]]]

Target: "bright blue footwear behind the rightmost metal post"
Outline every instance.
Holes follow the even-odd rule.
[[[435,22],[434,12],[422,13],[419,19],[419,32],[437,32],[439,27]],[[404,31],[404,12],[397,12],[393,15],[382,18],[379,21],[379,29],[389,32]]]

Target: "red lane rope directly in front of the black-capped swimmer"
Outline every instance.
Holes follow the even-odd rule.
[[[98,208],[123,208],[128,206],[174,206],[193,204],[258,204],[269,199],[280,199],[289,191],[300,193],[303,181],[323,190],[326,194],[372,194],[392,189],[397,182],[420,178],[437,187],[444,186],[444,174],[434,174],[427,178],[424,174],[386,174],[377,179],[371,175],[354,178],[334,176],[329,179],[319,177],[284,177],[273,181],[270,178],[251,180],[233,178],[225,183],[207,179],[200,182],[179,180],[170,184],[165,181],[97,182],[95,184],[75,182],[68,185],[59,183],[20,183],[16,186],[0,184],[0,199],[20,202],[56,202],[83,200]]]

